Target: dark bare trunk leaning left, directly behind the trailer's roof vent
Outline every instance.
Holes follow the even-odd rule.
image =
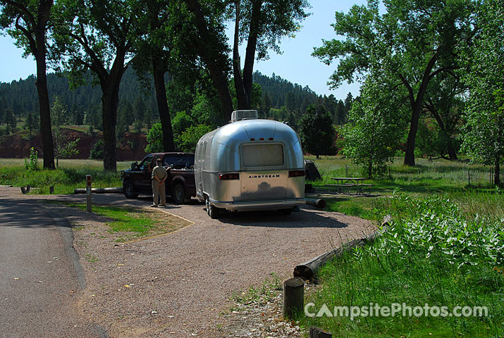
[[[231,94],[229,94],[227,71],[222,68],[225,63],[219,63],[217,60],[219,58],[227,58],[227,56],[216,56],[213,54],[213,49],[211,45],[209,46],[209,42],[214,39],[211,38],[211,33],[208,30],[199,2],[197,0],[187,0],[187,3],[189,10],[195,15],[196,26],[200,38],[198,43],[199,54],[202,56],[204,63],[207,64],[211,81],[214,83],[217,93],[219,93],[222,109],[222,115],[219,118],[219,123],[224,125],[231,118],[231,113],[233,112],[233,100],[231,99]]]

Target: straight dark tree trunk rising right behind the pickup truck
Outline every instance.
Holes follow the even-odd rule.
[[[163,132],[163,149],[164,151],[175,151],[170,111],[168,109],[168,101],[166,101],[166,86],[164,84],[166,68],[164,68],[162,61],[155,56],[152,58],[152,68],[154,74],[154,87],[156,88],[157,108],[159,110],[161,130]]]

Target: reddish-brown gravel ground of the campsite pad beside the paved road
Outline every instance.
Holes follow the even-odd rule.
[[[262,337],[256,332],[259,327],[251,328],[253,323],[235,330],[243,313],[230,312],[236,306],[233,294],[262,284],[271,273],[286,280],[295,265],[374,229],[367,220],[310,206],[291,215],[249,212],[212,220],[203,204],[192,201],[156,209],[190,220],[187,227],[120,243],[107,231],[106,219],[50,204],[52,200],[84,203],[85,195],[23,195],[19,188],[0,188],[0,198],[44,201],[69,220],[86,282],[75,306],[111,337]],[[138,208],[149,208],[151,203],[147,197],[128,200],[121,194],[94,194],[93,202]],[[265,305],[272,309],[270,316],[278,318],[277,305]],[[278,319],[272,321],[285,327],[282,332],[298,334],[295,328],[278,324]]]

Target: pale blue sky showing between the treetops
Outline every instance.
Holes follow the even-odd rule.
[[[321,46],[322,39],[333,39],[336,34],[331,27],[334,23],[336,11],[348,12],[353,4],[364,4],[363,0],[312,0],[309,16],[303,23],[295,38],[283,39],[281,50],[283,54],[270,54],[267,61],[256,62],[254,70],[264,75],[272,73],[290,82],[308,86],[317,94],[333,94],[338,99],[345,99],[348,92],[354,96],[359,93],[359,84],[342,84],[336,90],[329,90],[327,82],[336,65],[324,65],[319,59],[311,56],[313,47]],[[231,34],[231,32],[230,32]],[[230,35],[231,39],[232,36]],[[232,41],[232,40],[231,40]],[[36,72],[35,61],[32,57],[22,58],[23,51],[16,48],[10,37],[0,37],[0,82],[11,82],[26,78]],[[241,58],[245,58],[245,51],[240,51]]]

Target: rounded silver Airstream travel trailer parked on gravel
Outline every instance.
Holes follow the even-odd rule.
[[[231,123],[199,139],[195,153],[198,199],[211,218],[219,210],[278,209],[305,204],[305,163],[300,138],[257,111],[233,111]]]

